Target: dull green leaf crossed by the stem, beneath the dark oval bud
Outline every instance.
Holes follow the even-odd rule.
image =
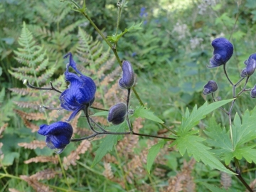
[[[116,130],[116,132],[124,132],[124,127],[125,127],[126,122],[119,124],[117,126],[112,126],[110,129]],[[109,151],[112,151],[113,146],[117,144],[117,141],[121,139],[121,135],[117,134],[112,134],[112,135],[107,135],[106,137],[101,139],[101,143],[99,148],[96,151],[96,156],[95,159],[93,159],[92,166],[95,166],[97,163],[100,162],[100,160],[107,154]]]

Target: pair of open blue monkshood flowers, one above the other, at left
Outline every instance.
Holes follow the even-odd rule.
[[[70,121],[80,110],[84,110],[86,106],[92,105],[92,102],[95,100],[96,85],[90,77],[80,73],[71,53],[64,56],[64,58],[68,57],[69,63],[64,75],[65,80],[70,85],[68,89],[60,94],[59,99],[60,106],[64,110],[73,112],[67,120]],[[73,68],[77,74],[70,73],[69,68]],[[50,125],[43,124],[40,126],[38,134],[46,136],[46,145],[59,154],[70,143],[73,128],[68,122],[55,122]]]

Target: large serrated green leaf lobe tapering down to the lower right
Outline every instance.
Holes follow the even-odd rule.
[[[210,148],[208,146],[201,143],[203,140],[204,139],[201,137],[187,134],[176,139],[171,146],[176,144],[181,155],[185,154],[187,151],[188,156],[193,155],[193,158],[196,159],[196,161],[202,161],[203,164],[206,164],[213,169],[218,169],[228,174],[234,174],[232,171],[226,169],[220,160],[213,156],[209,151]]]

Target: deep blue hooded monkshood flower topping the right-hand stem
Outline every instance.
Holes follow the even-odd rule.
[[[208,68],[216,68],[220,65],[225,65],[233,55],[233,45],[226,38],[215,38],[212,42],[213,57],[210,58]]]

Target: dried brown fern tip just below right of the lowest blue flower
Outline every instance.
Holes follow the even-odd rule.
[[[65,170],[68,170],[68,166],[72,164],[73,166],[76,165],[76,160],[80,159],[80,154],[84,154],[90,148],[90,142],[87,140],[83,140],[80,145],[72,151],[71,154],[63,159],[63,167]]]

